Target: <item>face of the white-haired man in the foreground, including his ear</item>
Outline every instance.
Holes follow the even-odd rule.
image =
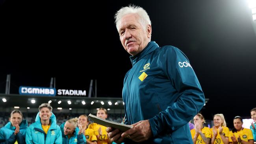
[[[131,55],[141,52],[150,41],[151,26],[141,25],[137,14],[128,14],[121,18],[118,32],[124,49]]]

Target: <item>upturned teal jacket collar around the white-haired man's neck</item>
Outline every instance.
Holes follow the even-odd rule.
[[[154,50],[159,48],[158,44],[155,41],[148,42],[148,45],[137,55],[130,56],[130,60],[132,62],[132,66],[135,65],[140,59],[145,57],[146,55],[150,54]]]

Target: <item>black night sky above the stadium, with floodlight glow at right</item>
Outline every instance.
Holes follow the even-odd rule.
[[[55,77],[57,89],[88,92],[90,79],[97,79],[98,97],[121,97],[132,65],[113,16],[128,4],[148,12],[152,41],[187,55],[210,99],[202,109],[206,119],[216,113],[228,123],[236,115],[250,117],[256,107],[256,36],[245,0],[6,0],[0,10],[0,93],[11,74],[11,93],[20,85],[49,87]]]

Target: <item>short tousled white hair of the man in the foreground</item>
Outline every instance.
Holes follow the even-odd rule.
[[[125,15],[132,13],[139,15],[141,26],[143,26],[145,29],[147,29],[148,24],[151,25],[151,21],[145,9],[139,6],[129,5],[128,7],[122,7],[121,9],[119,9],[119,11],[117,11],[117,13],[115,13],[115,24],[117,27],[117,31],[119,31],[118,27],[120,25],[121,18]]]

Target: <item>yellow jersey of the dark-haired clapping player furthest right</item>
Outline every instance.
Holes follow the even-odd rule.
[[[231,137],[236,137],[237,138],[240,136],[241,140],[244,140],[246,142],[248,142],[249,140],[253,140],[253,136],[252,136],[252,131],[250,129],[247,128],[242,128],[242,130],[237,131],[235,133],[233,133],[232,131],[229,132],[229,142],[233,142]],[[238,142],[237,144],[241,144],[240,142]]]

